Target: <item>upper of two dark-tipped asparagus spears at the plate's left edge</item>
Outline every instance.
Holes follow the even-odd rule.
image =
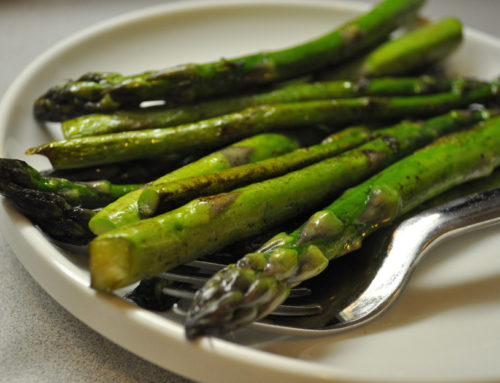
[[[141,186],[115,185],[106,180],[75,183],[64,178],[43,177],[26,162],[9,158],[0,158],[0,178],[3,184],[52,192],[63,197],[71,206],[90,209],[102,207]]]

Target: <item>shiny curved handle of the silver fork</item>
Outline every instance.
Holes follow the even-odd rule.
[[[392,233],[384,262],[365,291],[338,313],[332,331],[371,320],[394,301],[411,270],[443,239],[500,223],[500,189],[460,198],[403,221]]]

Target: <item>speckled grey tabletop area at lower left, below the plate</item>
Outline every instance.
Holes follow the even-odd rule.
[[[3,236],[0,279],[0,382],[190,382],[69,314],[31,278]]]

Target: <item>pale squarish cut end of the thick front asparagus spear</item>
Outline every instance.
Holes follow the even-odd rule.
[[[90,243],[90,286],[112,291],[128,284],[130,242],[121,238],[98,238]]]

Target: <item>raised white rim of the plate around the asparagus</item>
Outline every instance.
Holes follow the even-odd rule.
[[[113,29],[122,27],[125,24],[138,22],[150,17],[161,17],[173,12],[189,12],[193,9],[196,9],[197,11],[200,11],[200,9],[212,10],[217,7],[227,6],[240,7],[251,5],[258,7],[284,4],[287,6],[292,5],[327,8],[345,7],[354,11],[363,11],[370,6],[367,3],[350,3],[349,1],[337,0],[192,0],[189,2],[176,1],[173,3],[147,7],[95,23],[52,45],[49,49],[38,55],[11,83],[0,101],[0,143],[3,144],[5,142],[8,130],[8,117],[12,111],[13,104],[18,94],[23,88],[23,85],[28,83],[29,79],[40,68],[44,67],[48,62],[57,57],[57,55],[63,53],[65,50],[76,44],[82,43],[85,40],[103,32],[112,31]],[[500,39],[497,39],[489,34],[466,27],[465,35],[469,38],[486,41],[488,44],[495,45],[498,49],[500,49]],[[5,153],[3,153],[3,145],[0,146],[0,156],[5,156]],[[64,254],[59,252],[54,246],[54,243],[48,240],[47,237],[45,237],[43,233],[33,226],[28,219],[15,211],[10,202],[8,202],[5,198],[2,198],[2,205],[4,207],[3,209],[0,209],[0,221],[3,223],[2,227],[4,228],[2,232],[7,242],[14,250],[16,257],[21,261],[23,266],[40,284],[40,286],[42,286],[42,288],[61,306],[93,330],[105,338],[119,344],[121,347],[129,350],[130,352],[156,365],[159,365],[162,368],[191,379],[206,379],[209,377],[209,375],[207,375],[207,372],[209,371],[206,369],[196,369],[196,371],[194,371],[189,368],[189,365],[184,367],[179,367],[179,365],[166,366],[162,361],[164,358],[158,358],[152,352],[143,352],[135,349],[135,344],[137,342],[134,341],[131,345],[130,342],[127,342],[127,339],[124,340],[123,336],[120,336],[122,331],[136,329],[136,326],[139,326],[142,331],[141,333],[144,336],[151,337],[151,335],[154,334],[161,335],[161,341],[159,344],[154,345],[155,347],[152,347],[153,349],[161,346],[161,344],[165,341],[163,338],[168,335],[173,346],[183,348],[182,350],[179,350],[177,347],[174,347],[174,354],[178,353],[184,355],[192,352],[198,352],[198,354],[201,353],[205,358],[202,361],[208,363],[208,369],[218,370],[217,374],[213,375],[213,381],[225,381],[224,379],[231,379],[233,376],[231,373],[224,373],[223,370],[215,367],[220,365],[220,363],[227,362],[228,360],[238,362],[239,364],[237,367],[245,367],[248,371],[258,367],[260,371],[257,375],[265,376],[266,380],[272,380],[273,378],[286,378],[288,382],[292,383],[303,382],[304,379],[308,379],[310,382],[378,381],[373,380],[373,377],[367,376],[366,374],[355,374],[352,371],[345,371],[344,369],[336,366],[326,367],[311,361],[281,356],[232,343],[224,339],[205,337],[195,343],[187,342],[184,338],[181,325],[124,302],[117,297],[96,292],[88,287],[88,281],[86,284],[82,283],[82,281],[75,283],[75,279],[78,280],[81,278],[81,276],[75,275],[75,273],[71,270],[71,267],[76,267],[76,265],[66,258]],[[42,253],[42,250],[45,252]],[[32,259],[29,259],[30,257],[33,257],[33,255],[37,258],[40,254],[42,254],[42,257],[36,259],[34,263]],[[59,282],[56,283],[55,280],[49,281],[47,280],[47,277],[43,277],[41,275],[42,270],[48,268],[57,270],[56,279],[58,279]],[[70,278],[70,276],[72,277]],[[61,283],[60,281],[71,282],[69,289],[72,290],[71,294],[81,294],[81,296],[85,298],[85,302],[83,302],[83,306],[85,306],[85,308],[87,307],[87,304],[97,302],[98,310],[108,310],[106,314],[112,319],[127,318],[128,326],[113,328],[113,326],[108,325],[103,328],[102,323],[99,323],[99,320],[89,318],[88,314],[81,312],[81,310],[77,307],[69,308],[65,302],[65,298],[63,297],[63,295],[67,295],[68,292],[59,292],[55,289],[54,285]],[[145,320],[148,321],[146,325],[144,322]],[[172,352],[170,354],[172,354]],[[175,355],[172,354],[172,356]],[[190,362],[192,363],[193,359],[191,359]],[[311,370],[314,370],[314,372],[311,373]],[[239,371],[249,373],[248,371],[245,372],[241,369],[239,369]],[[254,381],[255,377],[256,375],[247,375],[247,378],[251,379],[248,380],[249,382]],[[384,378],[383,381],[388,382],[393,381],[393,379],[387,377]]]

